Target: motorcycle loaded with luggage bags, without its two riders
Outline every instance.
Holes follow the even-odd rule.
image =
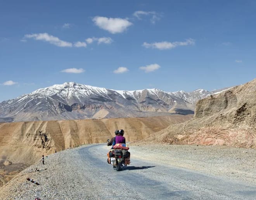
[[[116,144],[112,148],[113,149],[107,153],[107,163],[111,164],[113,168],[116,168],[116,171],[120,171],[124,166],[130,164],[129,147],[123,144]]]

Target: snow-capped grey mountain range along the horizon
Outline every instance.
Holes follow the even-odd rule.
[[[97,119],[193,114],[195,102],[214,94],[206,90],[120,91],[67,82],[38,89],[0,103],[0,121]]]

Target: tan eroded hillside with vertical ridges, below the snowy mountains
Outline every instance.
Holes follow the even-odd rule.
[[[42,157],[81,144],[107,142],[116,129],[124,129],[126,141],[182,123],[192,115],[168,115],[94,120],[13,122],[0,124],[0,186],[20,169]],[[1,183],[2,182],[2,183]]]

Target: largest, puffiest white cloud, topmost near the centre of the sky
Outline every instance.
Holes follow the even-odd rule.
[[[132,23],[129,22],[127,19],[121,18],[107,18],[96,16],[93,17],[92,21],[95,25],[100,27],[100,29],[109,31],[112,34],[124,32],[130,25],[132,25]]]

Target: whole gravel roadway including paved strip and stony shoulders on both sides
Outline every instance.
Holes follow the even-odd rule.
[[[49,155],[0,188],[0,199],[256,199],[255,149],[131,145],[123,171],[107,164],[108,149],[86,145]]]

